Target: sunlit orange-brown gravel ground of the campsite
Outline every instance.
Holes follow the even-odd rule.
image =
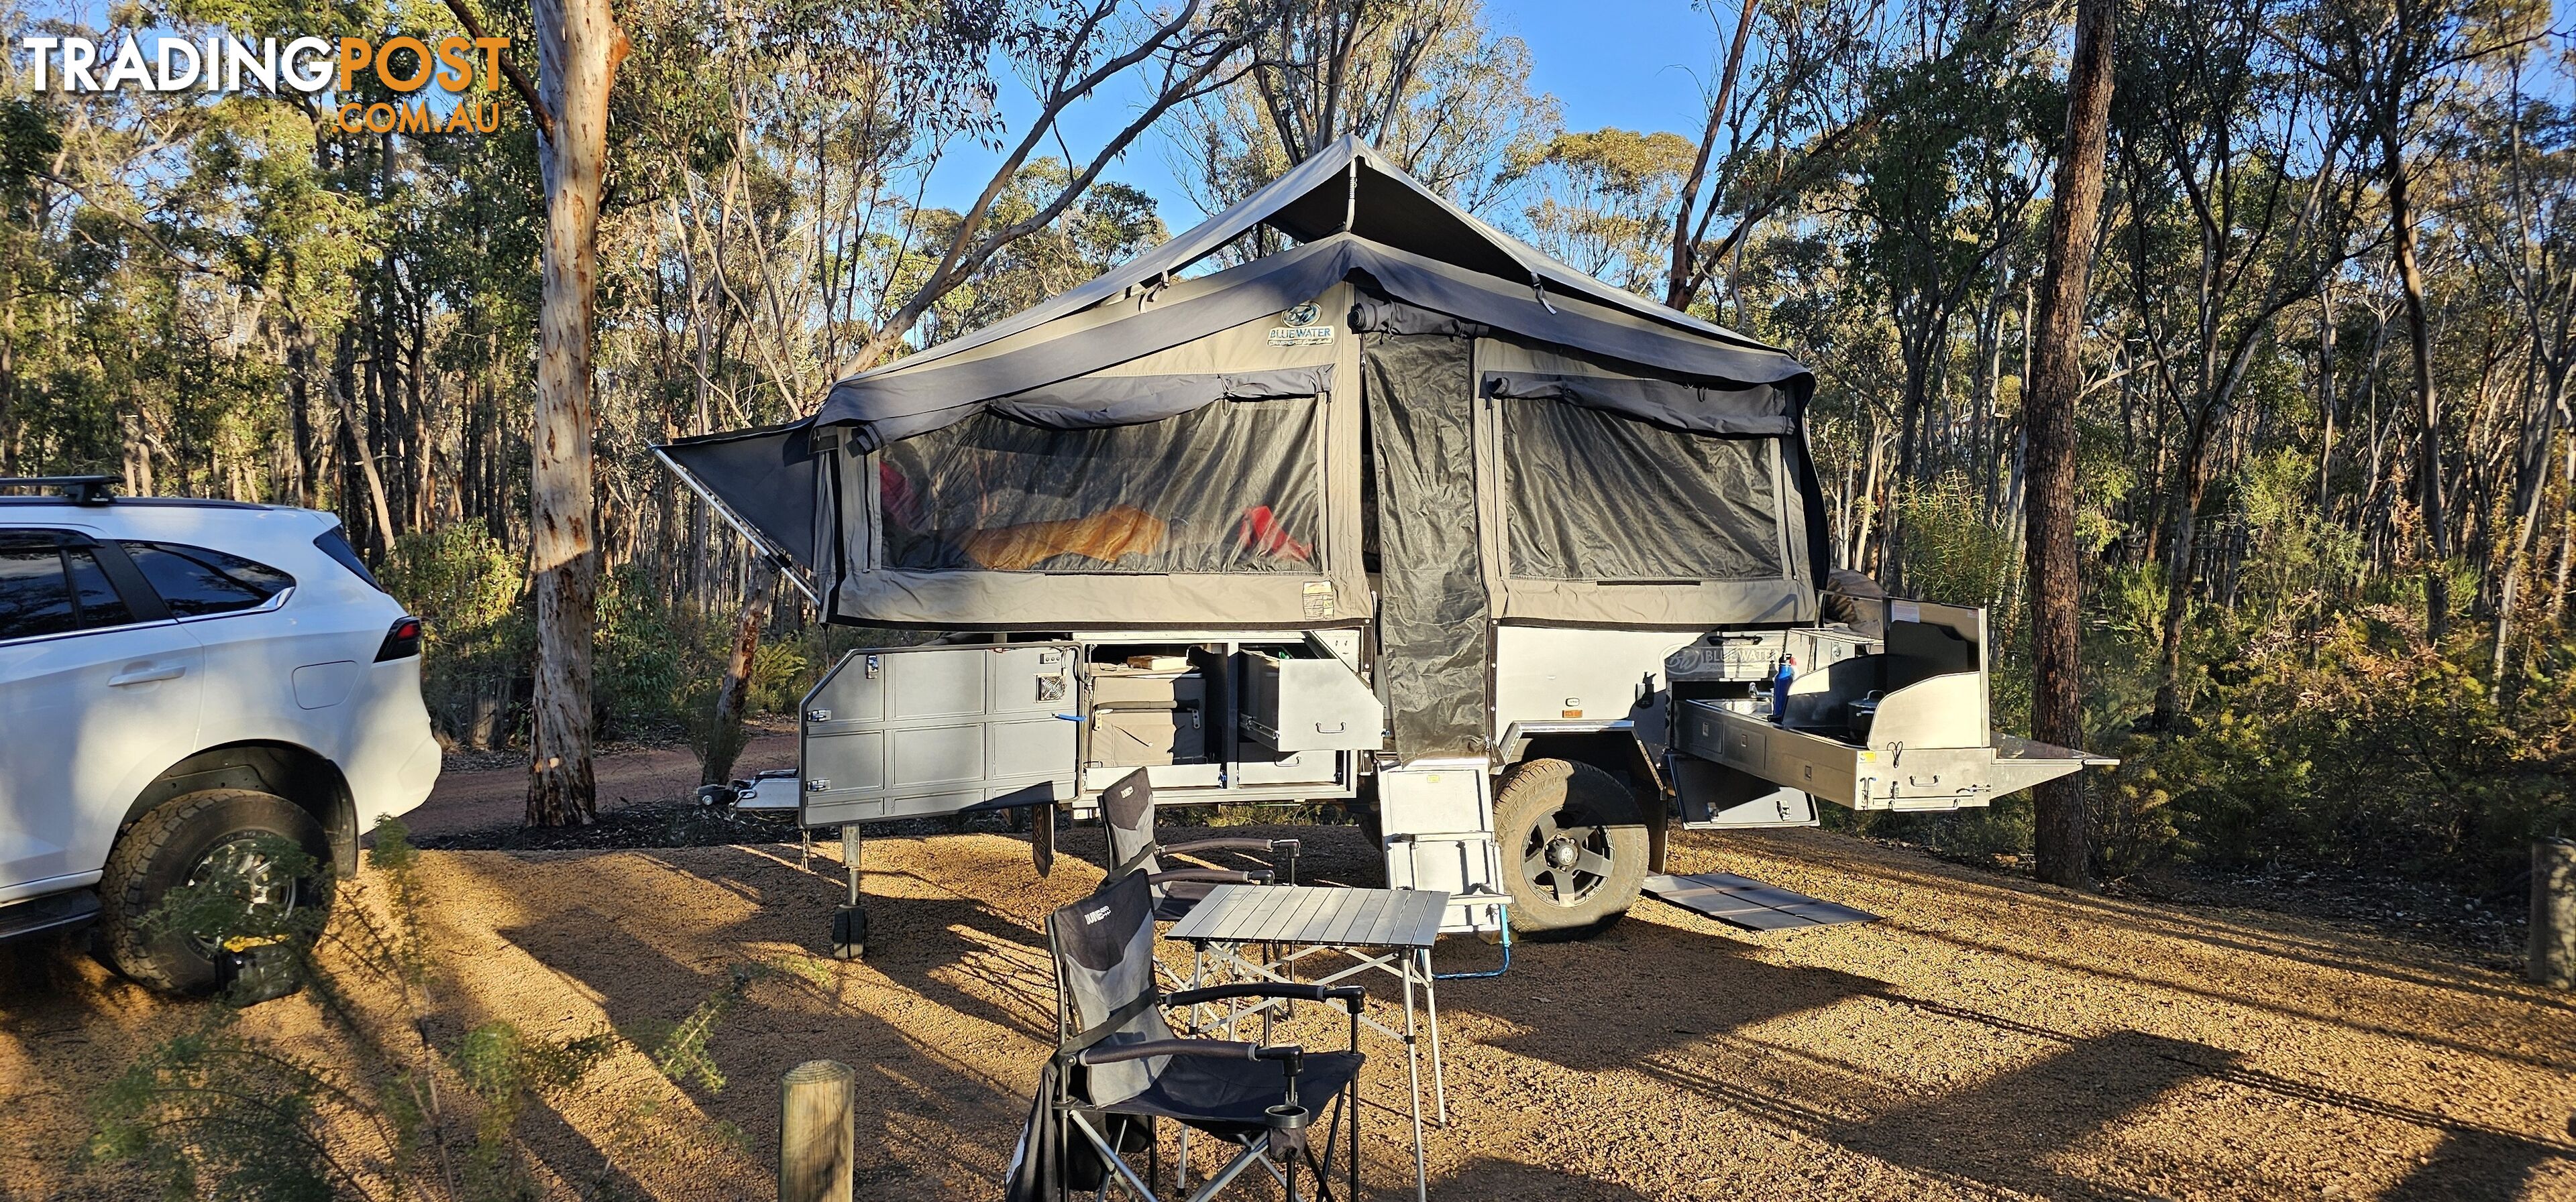
[[[1378,880],[1355,829],[1296,834],[1309,878]],[[866,963],[822,957],[829,852],[425,855],[446,1030],[667,1022],[762,965],[711,1045],[721,1091],[629,1053],[526,1117],[549,1197],[765,1197],[775,1081],[806,1058],[860,1071],[863,1197],[997,1197],[1051,1037],[1036,924],[1097,880],[1097,831],[1069,831],[1046,880],[1007,834],[871,839]],[[1674,870],[1886,919],[1754,937],[1643,901],[1443,986],[1435,1197],[2576,1197],[2576,1006],[2460,955],[1821,831],[1677,837]],[[67,945],[0,950],[0,1197],[139,1194],[70,1151],[85,1099],[185,1009]],[[330,1048],[304,999],[245,1022]],[[1368,1050],[1370,1194],[1399,1197],[1399,1060]]]

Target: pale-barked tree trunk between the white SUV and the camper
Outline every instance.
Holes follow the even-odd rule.
[[[528,826],[598,816],[590,777],[590,641],[598,530],[590,479],[590,304],[598,286],[608,88],[626,33],[608,0],[536,0],[538,95],[551,136],[536,420],[528,438],[528,546],[536,574],[536,703]]]

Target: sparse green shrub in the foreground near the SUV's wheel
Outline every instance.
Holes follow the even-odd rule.
[[[276,855],[301,855],[294,844]],[[296,957],[312,1001],[355,1058],[325,1060],[301,1040],[258,1035],[229,1001],[209,1004],[191,1030],[152,1045],[95,1099],[85,1163],[124,1163],[167,1199],[322,1202],[526,1199],[538,1197],[520,1145],[536,1104],[562,1104],[613,1055],[641,1053],[675,1084],[724,1089],[708,1042],[765,965],[726,973],[683,1022],[652,1042],[598,1030],[536,1037],[505,1019],[440,1042],[438,955],[420,924],[420,852],[399,821],[379,824],[363,883],[332,883],[327,865],[289,862],[337,891],[330,921],[304,906],[291,921],[263,919],[240,891],[180,888],[152,914],[160,929]],[[618,1140],[649,1122],[639,1107]]]

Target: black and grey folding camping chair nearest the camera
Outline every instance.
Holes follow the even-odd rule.
[[[1190,1202],[1216,1197],[1252,1166],[1267,1169],[1291,1199],[1301,1197],[1301,1169],[1314,1174],[1319,1199],[1358,1197],[1363,988],[1249,983],[1159,994],[1151,968],[1154,893],[1141,873],[1054,911],[1046,950],[1056,960],[1056,1055],[1038,1078],[1038,1099],[1010,1161],[1010,1202],[1054,1202],[1069,1189],[1108,1194],[1110,1179],[1154,1202],[1162,1197],[1154,1194],[1162,1120],[1182,1125],[1175,1189],[1188,1189],[1190,1130],[1239,1148],[1188,1194]],[[1340,1001],[1350,1012],[1350,1050],[1182,1040],[1162,1017],[1162,1006],[1244,996]],[[1316,1125],[1324,1102],[1332,1109]],[[1316,1127],[1324,1133],[1321,1156]],[[1337,1143],[1350,1161],[1342,1194],[1332,1189]],[[1139,1151],[1146,1153],[1144,1174],[1128,1161]]]

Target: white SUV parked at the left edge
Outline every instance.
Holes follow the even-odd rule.
[[[227,873],[299,906],[263,837],[358,865],[358,834],[438,780],[420,620],[312,510],[0,486],[0,939],[98,921],[126,975],[209,991],[240,965],[144,924]]]

